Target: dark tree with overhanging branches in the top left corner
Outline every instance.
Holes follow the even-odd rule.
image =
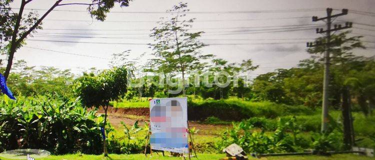
[[[5,50],[8,58],[5,68],[4,76],[8,78],[9,72],[13,63],[14,53],[22,46],[27,36],[32,36],[31,33],[35,29],[41,29],[42,20],[56,7],[64,5],[87,5],[87,11],[91,16],[97,20],[103,21],[106,13],[119,3],[120,6],[128,6],[129,0],[91,0],[91,3],[69,2],[62,3],[63,0],[55,0],[52,6],[47,11],[38,17],[36,12],[29,12],[26,16],[23,14],[25,6],[33,0],[21,0],[18,13],[14,13],[10,7],[13,0],[0,0],[0,44],[6,46]],[[8,40],[10,42],[6,43]],[[1,48],[0,48],[1,49]]]

